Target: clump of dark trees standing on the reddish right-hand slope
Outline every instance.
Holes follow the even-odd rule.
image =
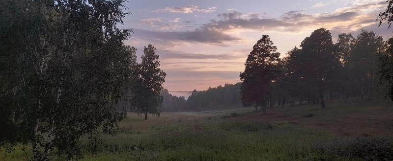
[[[240,74],[246,106],[265,109],[307,101],[319,102],[325,108],[325,99],[379,99],[387,92],[383,88],[385,80],[393,80],[391,43],[373,31],[361,30],[357,37],[343,33],[334,44],[329,30],[320,28],[282,60],[273,43],[261,44],[267,38],[262,36],[253,47],[246,69]],[[378,81],[381,76],[385,79]]]

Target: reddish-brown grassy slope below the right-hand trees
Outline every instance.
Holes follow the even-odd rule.
[[[335,109],[335,113],[329,115],[331,114],[329,112],[330,109],[326,109],[326,111],[317,111],[317,114],[314,115],[310,114],[310,109],[312,108],[272,109],[266,115],[263,115],[262,112],[254,112],[231,119],[286,122],[327,131],[340,136],[387,136],[393,133],[392,110],[381,109],[381,107],[370,107],[359,109],[361,112],[341,112]],[[362,112],[362,110],[365,111]],[[372,113],[368,113],[366,110],[372,111]]]

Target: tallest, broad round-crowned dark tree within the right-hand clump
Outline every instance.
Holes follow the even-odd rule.
[[[321,107],[325,108],[324,92],[334,83],[341,67],[337,46],[333,44],[329,30],[320,28],[311,33],[301,49],[294,49],[289,55],[289,70],[298,86],[318,94]],[[295,89],[296,90],[296,89]]]

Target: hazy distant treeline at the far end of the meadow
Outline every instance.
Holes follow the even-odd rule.
[[[242,106],[240,83],[225,84],[205,91],[194,90],[186,100],[185,97],[173,96],[167,89],[161,92],[164,102],[161,111],[173,112],[182,110],[212,110],[236,108]]]

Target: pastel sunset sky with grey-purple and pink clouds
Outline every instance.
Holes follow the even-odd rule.
[[[169,91],[201,91],[240,82],[253,45],[269,35],[281,57],[315,29],[356,36],[371,30],[385,39],[393,30],[378,26],[386,0],[129,0],[121,28],[133,30],[126,45],[137,55],[152,44],[167,73]]]

